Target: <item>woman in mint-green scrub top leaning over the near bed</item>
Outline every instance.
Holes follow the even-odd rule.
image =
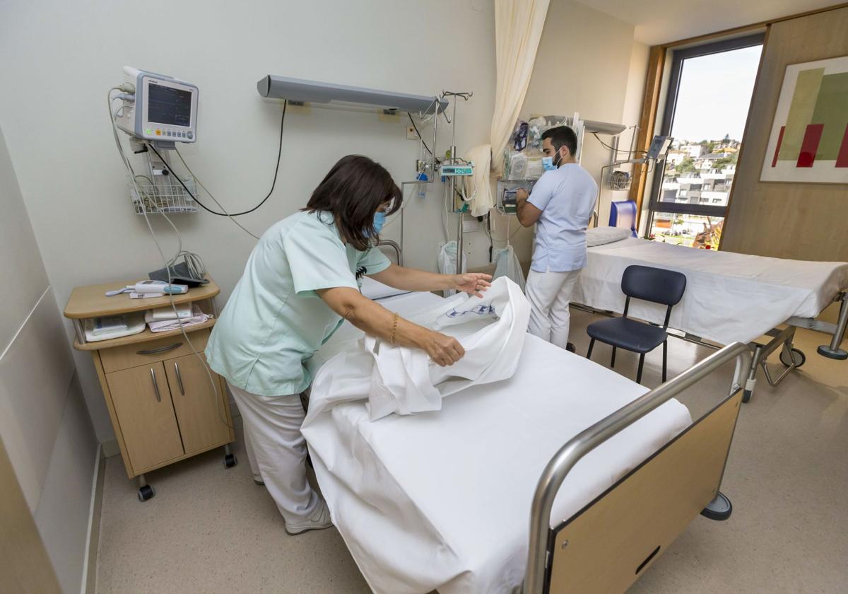
[[[373,248],[385,216],[403,197],[382,165],[349,155],[333,165],[304,210],[266,231],[212,330],[206,357],[226,378],[242,414],[254,480],[274,498],[289,534],[332,525],[306,480],[299,394],[304,361],[344,319],[395,344],[426,350],[439,365],[465,354],[460,343],[360,294],[357,273],[397,289],[456,289],[479,295],[485,274],[442,275],[395,266]]]

